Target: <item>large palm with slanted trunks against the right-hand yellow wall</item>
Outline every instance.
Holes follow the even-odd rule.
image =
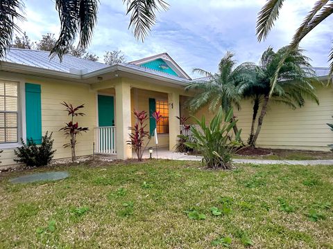
[[[303,107],[305,98],[310,98],[319,104],[313,85],[314,82],[319,81],[316,79],[314,71],[311,69],[309,58],[302,55],[302,50],[300,49],[288,53],[288,56],[284,59],[282,67],[280,68],[278,81],[272,89],[271,80],[275,77],[277,68],[288,49],[289,48],[285,46],[275,53],[273,48],[269,47],[262,54],[258,66],[251,63],[246,64],[248,74],[255,75],[243,92],[244,98],[253,100],[253,120],[250,129],[250,137],[248,139],[248,144],[253,147],[255,147],[260,130],[262,129],[262,123],[264,116],[266,116],[269,102],[281,102],[293,109]],[[262,104],[262,109],[257,120],[257,129],[255,131],[255,121],[260,104]]]

